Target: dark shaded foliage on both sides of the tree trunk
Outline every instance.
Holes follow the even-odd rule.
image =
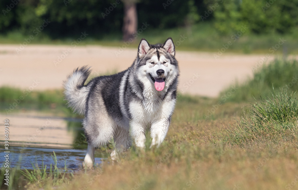
[[[138,29],[143,22],[147,22],[150,28],[159,29],[184,26],[186,22],[196,22],[199,12],[204,12],[205,8],[203,1],[194,0],[175,2],[142,0],[136,2]],[[11,3],[11,0],[3,0],[0,2],[0,7],[5,9]],[[0,15],[0,32],[16,30],[25,35],[32,35],[32,31],[39,27],[43,20],[48,19],[50,24],[45,27],[41,36],[47,35],[56,39],[86,31],[93,37],[104,39],[103,34],[110,32],[121,34],[124,16],[123,5],[124,1],[122,0],[19,1],[6,15]]]

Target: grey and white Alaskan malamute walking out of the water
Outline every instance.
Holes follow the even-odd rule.
[[[147,128],[152,137],[150,147],[158,147],[167,134],[176,103],[179,68],[172,38],[155,45],[142,39],[127,70],[93,78],[84,86],[90,73],[87,66],[77,68],[64,82],[69,106],[85,115],[88,149],[83,167],[93,167],[94,149],[112,138],[113,160],[131,146],[131,138],[137,147],[144,148]]]

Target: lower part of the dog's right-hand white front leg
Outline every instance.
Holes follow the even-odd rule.
[[[156,145],[159,147],[162,144],[165,136],[167,135],[167,131],[169,129],[170,121],[168,119],[160,119],[152,124],[150,129],[150,135],[152,137],[152,142],[150,148]]]

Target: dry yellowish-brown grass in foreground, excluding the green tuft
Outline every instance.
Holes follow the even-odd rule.
[[[108,159],[58,189],[298,189],[297,133],[232,143],[230,133],[244,127],[234,119],[241,104],[224,104],[204,119],[215,102],[181,98],[161,147],[133,146],[119,162]]]

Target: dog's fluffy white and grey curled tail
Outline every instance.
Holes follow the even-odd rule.
[[[78,67],[72,74],[67,76],[63,84],[65,99],[68,101],[69,107],[72,107],[78,114],[84,114],[86,99],[89,93],[89,87],[84,86],[84,83],[90,73],[90,67]]]

